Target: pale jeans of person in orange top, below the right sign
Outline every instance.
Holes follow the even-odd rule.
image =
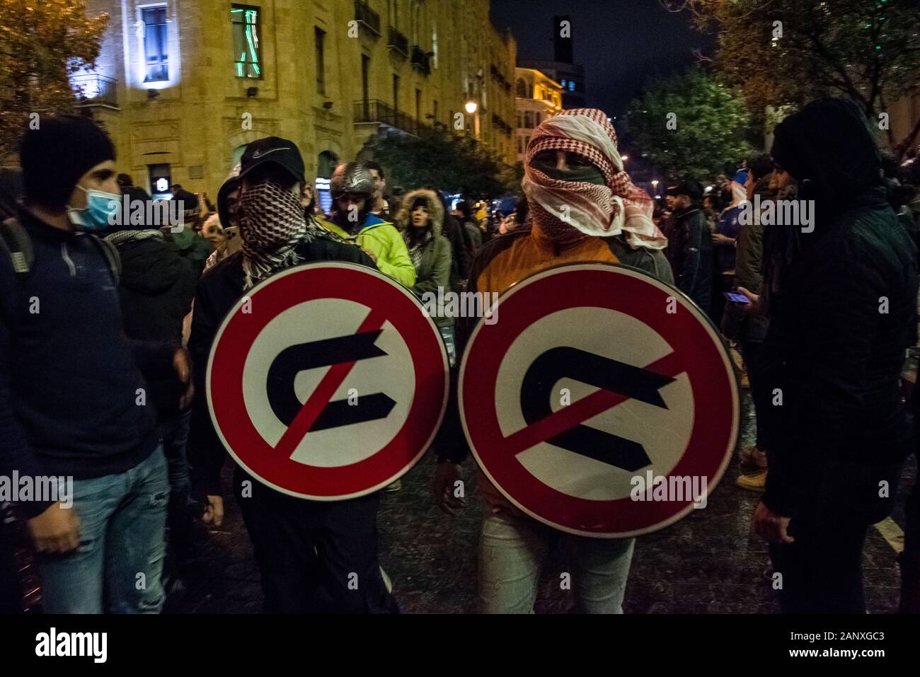
[[[565,548],[572,611],[622,614],[635,538],[586,538],[506,513],[489,515],[479,537],[483,614],[533,614],[540,568],[556,543]],[[560,577],[559,584],[563,584]]]

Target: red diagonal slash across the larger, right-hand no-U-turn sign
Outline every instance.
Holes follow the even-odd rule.
[[[677,353],[675,352],[662,357],[661,360],[653,361],[651,364],[644,367],[644,369],[650,372],[660,373],[662,376],[672,377],[685,371],[684,367],[681,366],[680,361],[677,359]],[[589,396],[582,397],[568,407],[563,407],[558,411],[554,411],[549,416],[517,432],[512,432],[511,435],[505,438],[504,444],[508,451],[513,455],[517,455],[540,442],[546,442],[546,440],[550,440],[558,434],[570,428],[574,428],[582,421],[591,419],[593,416],[597,416],[607,409],[626,402],[627,399],[629,399],[627,396],[621,395],[620,393],[614,393],[603,389],[598,390]]]

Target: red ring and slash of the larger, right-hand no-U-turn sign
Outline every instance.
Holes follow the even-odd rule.
[[[672,298],[678,308],[673,314],[666,312]],[[483,472],[507,499],[559,530],[607,538],[647,534],[693,510],[693,499],[638,501],[627,496],[596,500],[571,496],[546,485],[518,460],[517,453],[614,407],[625,399],[622,396],[601,390],[590,396],[597,403],[591,416],[569,417],[577,414],[576,406],[587,404],[588,397],[584,397],[527,426],[532,430],[503,434],[496,410],[496,382],[512,343],[543,317],[579,307],[607,308],[637,318],[671,346],[671,355],[655,365],[634,366],[668,376],[687,374],[696,405],[693,429],[683,455],[668,476],[706,477],[707,493],[711,493],[725,472],[737,440],[739,397],[730,357],[696,304],[642,271],[592,263],[536,273],[502,294],[498,305],[500,321],[486,324],[480,319],[467,343],[460,366],[458,399],[470,449]],[[583,331],[584,327],[572,330]],[[546,428],[543,424],[548,419],[557,422]],[[541,436],[541,429],[552,432]],[[634,475],[640,472],[643,471]]]

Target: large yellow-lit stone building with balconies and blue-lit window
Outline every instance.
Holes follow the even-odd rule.
[[[180,183],[213,196],[267,135],[297,143],[320,188],[338,162],[373,157],[380,134],[435,122],[515,160],[517,46],[492,26],[489,0],[89,0],[88,11],[111,18],[95,70],[75,84],[120,170],[154,194]]]

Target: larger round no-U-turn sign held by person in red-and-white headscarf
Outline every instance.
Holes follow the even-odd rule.
[[[705,505],[738,436],[728,352],[683,293],[567,265],[504,293],[460,366],[466,440],[522,511],[571,534],[646,534]]]

